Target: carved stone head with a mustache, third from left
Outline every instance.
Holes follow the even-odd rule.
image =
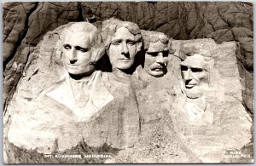
[[[157,31],[144,31],[145,49],[144,70],[151,76],[162,77],[167,72],[169,37]]]

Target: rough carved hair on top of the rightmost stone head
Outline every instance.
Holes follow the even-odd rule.
[[[204,60],[211,60],[211,52],[207,49],[203,49],[203,45],[195,43],[183,43],[179,51],[179,57],[181,60],[185,60],[188,56],[194,54],[201,54],[204,56]]]

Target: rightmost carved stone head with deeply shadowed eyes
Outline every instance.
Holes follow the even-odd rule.
[[[183,90],[189,99],[201,97],[208,86],[210,52],[184,44],[181,49]]]

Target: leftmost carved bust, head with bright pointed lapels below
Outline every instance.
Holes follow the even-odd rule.
[[[65,73],[47,95],[72,110],[79,121],[85,121],[113,100],[101,83],[102,73],[96,70],[96,62],[105,54],[105,46],[96,26],[87,22],[65,28],[61,32],[61,43],[68,74]]]

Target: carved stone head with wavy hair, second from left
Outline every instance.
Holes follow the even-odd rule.
[[[113,69],[129,71],[142,49],[142,35],[137,24],[117,19],[102,23],[102,38]]]

